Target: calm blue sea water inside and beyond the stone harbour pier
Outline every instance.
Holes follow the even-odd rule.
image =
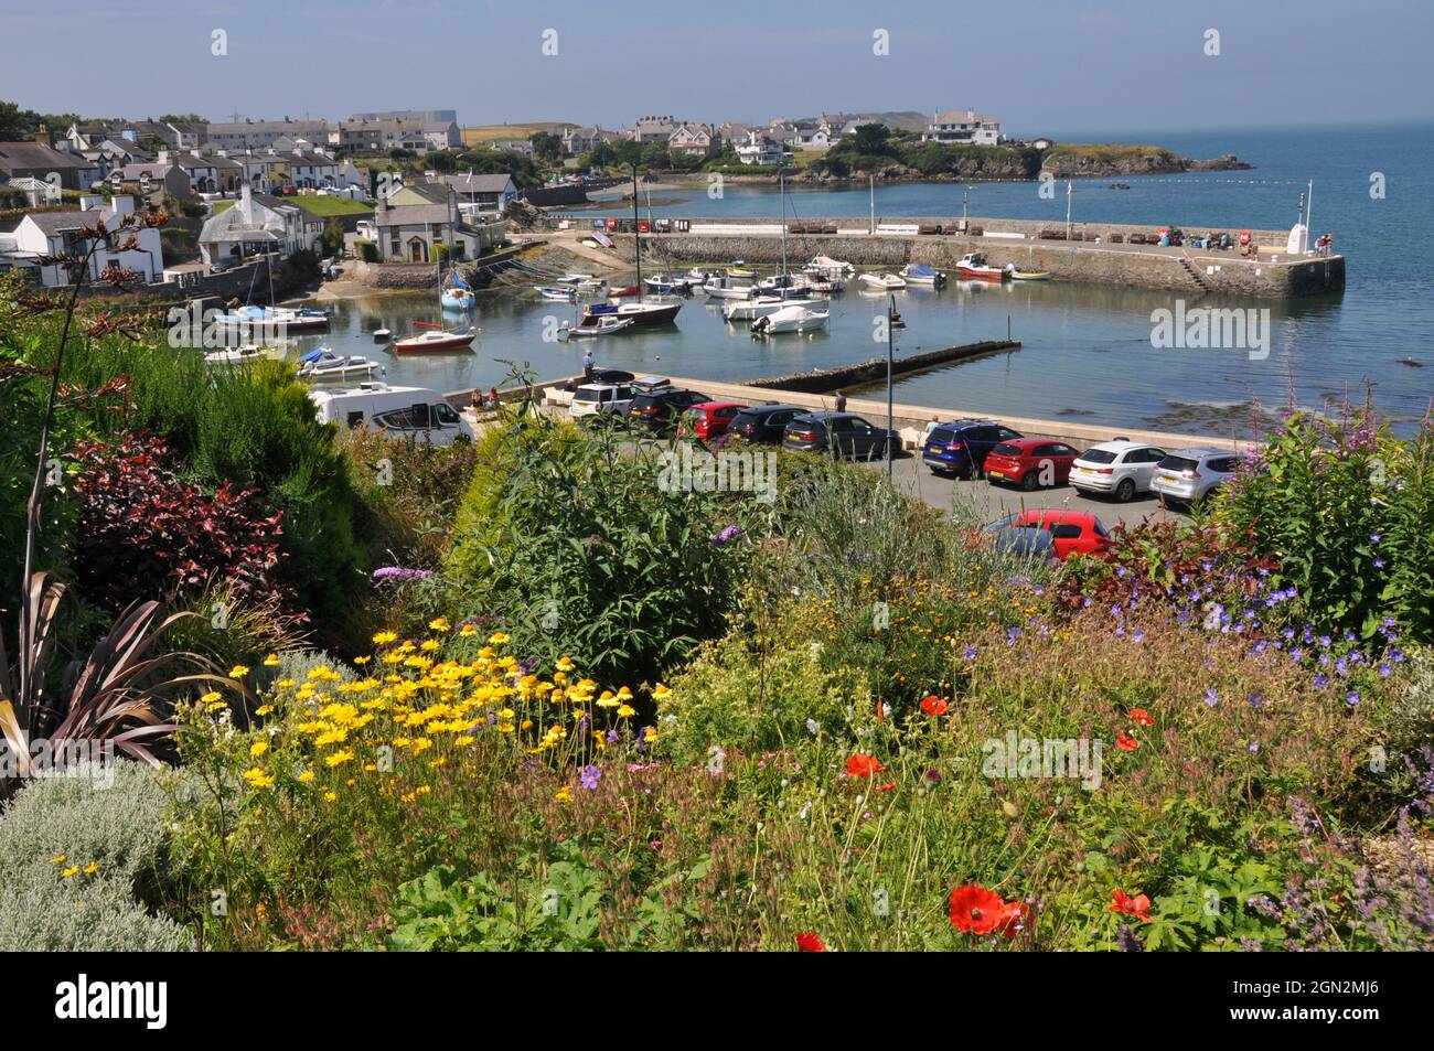
[[[1076,181],[1077,222],[1176,224],[1190,229],[1285,228],[1295,222],[1299,194],[1315,181],[1312,227],[1334,231],[1348,257],[1342,295],[1292,303],[1222,300],[1219,305],[1269,307],[1269,357],[1245,350],[1154,350],[1150,311],[1170,307],[1160,291],[1086,284],[954,284],[939,293],[908,290],[898,310],[908,323],[898,353],[952,343],[1002,338],[1022,341],[1002,354],[898,384],[896,399],[989,414],[1070,416],[1111,427],[1169,427],[1246,433],[1258,401],[1278,410],[1293,399],[1304,406],[1336,403],[1365,391],[1410,433],[1434,397],[1434,201],[1425,166],[1434,156],[1434,125],[1410,128],[1269,130],[1230,133],[1100,135],[1068,141],[1157,142],[1186,156],[1236,153],[1256,165],[1248,172],[1179,176],[1127,176],[1129,191],[1107,189],[1111,179]],[[1371,196],[1371,175],[1384,175],[1385,196]],[[959,215],[962,191],[971,215],[1044,218],[1064,222],[1064,186],[1043,201],[1030,182],[913,184],[878,189],[880,217]],[[780,215],[774,191],[727,186],[720,201],[694,192],[654,206],[655,215]],[[865,215],[868,194],[796,191],[789,214]],[[594,212],[594,214],[602,214]],[[480,294],[482,334],[472,353],[396,358],[367,331],[381,325],[410,331],[412,320],[435,320],[433,295],[374,297],[337,304],[334,328],[304,346],[327,343],[389,364],[390,381],[439,390],[488,387],[508,374],[503,363],[526,363],[541,379],[578,371],[582,344],[549,343],[545,318],[576,311],[543,303],[531,291]],[[1206,300],[1206,303],[1212,303]],[[885,297],[849,291],[833,303],[830,331],[753,340],[746,327],[723,323],[716,307],[694,297],[675,328],[637,331],[592,341],[601,364],[713,380],[741,380],[885,356],[872,338]],[[1401,358],[1423,361],[1417,368]]]

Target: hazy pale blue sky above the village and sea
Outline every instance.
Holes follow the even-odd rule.
[[[130,119],[1392,123],[1434,118],[1431,53],[1431,0],[0,0],[0,99]]]

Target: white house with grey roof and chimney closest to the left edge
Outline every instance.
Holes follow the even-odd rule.
[[[89,248],[89,241],[82,237],[82,227],[93,227],[103,221],[109,229],[116,229],[120,219],[133,215],[135,198],[128,194],[116,194],[106,206],[105,198],[99,194],[80,196],[80,211],[77,212],[30,212],[13,232],[0,235],[0,267],[33,267],[40,272],[40,281],[50,288],[69,285],[70,271],[60,264],[42,265],[39,257],[60,255],[65,252],[82,255]],[[159,242],[159,231],[142,228],[122,231],[115,238],[116,244],[128,242],[133,237],[135,247],[126,251],[98,248],[89,262],[89,280],[92,284],[100,282],[100,274],[110,267],[132,271],[136,280],[153,284],[161,281],[165,272],[165,252]]]

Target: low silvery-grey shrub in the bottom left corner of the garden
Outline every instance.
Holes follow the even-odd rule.
[[[0,812],[0,952],[192,948],[184,928],[149,908],[162,879],[165,793],[136,763],[118,760],[112,771],[113,787],[92,780],[93,767],[30,781]]]

